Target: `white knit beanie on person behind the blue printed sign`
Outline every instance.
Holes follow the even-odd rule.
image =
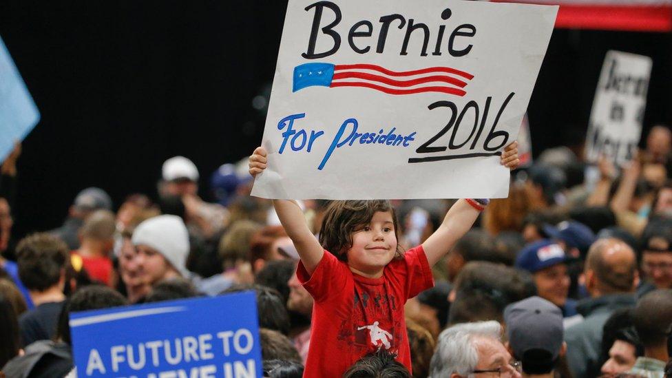
[[[138,224],[133,232],[133,245],[145,244],[156,249],[182,277],[189,277],[189,232],[178,216],[156,216]]]

